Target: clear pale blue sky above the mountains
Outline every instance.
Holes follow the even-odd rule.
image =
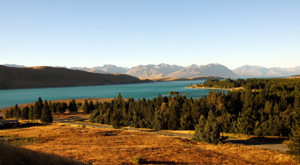
[[[0,1],[0,64],[300,65],[300,1]]]

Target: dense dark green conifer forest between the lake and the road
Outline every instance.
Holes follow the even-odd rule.
[[[168,130],[193,130],[203,120],[214,118],[221,132],[257,136],[288,136],[292,123],[299,121],[300,79],[230,78],[207,80],[209,86],[234,84],[238,89],[211,91],[199,99],[174,97],[122,99],[121,94],[111,102],[99,103],[89,119],[93,123],[110,124],[114,128],[131,126]],[[253,90],[255,89],[255,90]]]

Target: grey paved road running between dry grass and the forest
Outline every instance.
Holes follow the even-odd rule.
[[[75,124],[75,125],[86,125],[94,128],[113,128],[112,126],[103,126],[98,124],[90,124],[90,123],[75,123],[75,122],[68,122],[65,121],[65,119],[53,119],[53,122],[59,122],[59,123],[69,123],[69,124]],[[168,136],[179,136],[184,138],[192,138],[193,135],[191,134],[183,134],[183,133],[170,133],[170,132],[163,132],[158,130],[143,130],[143,129],[136,129],[136,128],[129,128],[128,130],[132,131],[144,131],[144,132],[150,132],[150,133],[157,133],[161,135],[168,135]],[[277,150],[281,152],[286,152],[288,150],[288,147],[286,144],[280,144],[280,143],[268,143],[268,142],[258,142],[258,141],[252,141],[252,140],[240,140],[240,139],[232,139],[229,138],[225,141],[226,143],[234,143],[234,144],[243,144],[248,146],[254,146],[258,148],[266,148],[266,149],[272,149]]]

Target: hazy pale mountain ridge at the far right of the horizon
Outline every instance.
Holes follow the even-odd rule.
[[[300,66],[295,68],[265,68],[256,65],[243,65],[232,69],[234,73],[239,76],[252,77],[252,76],[290,76],[293,74],[300,74]]]

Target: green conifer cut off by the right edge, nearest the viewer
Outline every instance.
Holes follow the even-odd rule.
[[[293,125],[292,132],[290,134],[290,140],[287,143],[289,150],[288,154],[295,156],[295,160],[300,162],[300,123],[297,122]]]

